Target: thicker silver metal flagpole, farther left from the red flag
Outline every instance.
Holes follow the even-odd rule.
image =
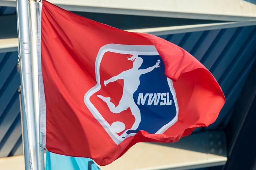
[[[31,51],[30,51],[30,23],[28,0],[17,0],[17,18],[18,18],[18,37],[19,49],[21,56],[21,86],[23,94],[24,109],[23,115],[26,115],[28,135],[28,151],[29,160],[25,159],[25,165],[29,161],[30,169],[37,170],[37,150],[36,150],[36,131],[35,131],[35,115],[34,115],[34,97],[32,83],[32,68],[31,68]],[[23,118],[24,119],[24,118]],[[24,130],[25,128],[23,128]],[[26,148],[24,148],[26,149]],[[24,151],[24,153],[27,153]],[[27,155],[25,155],[25,158]],[[26,169],[27,170],[27,169]]]

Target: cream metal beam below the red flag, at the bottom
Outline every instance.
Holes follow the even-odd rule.
[[[188,170],[224,165],[227,160],[222,131],[191,134],[177,143],[137,143],[101,170]],[[3,169],[24,169],[24,157],[0,158]]]

